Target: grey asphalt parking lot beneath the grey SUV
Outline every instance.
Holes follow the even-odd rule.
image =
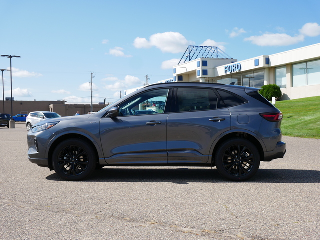
[[[215,168],[104,167],[67,182],[27,158],[24,123],[0,127],[0,239],[320,239],[320,140],[246,182]]]

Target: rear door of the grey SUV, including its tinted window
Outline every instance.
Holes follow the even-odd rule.
[[[207,163],[217,136],[231,128],[230,112],[213,88],[175,88],[167,120],[168,163]]]

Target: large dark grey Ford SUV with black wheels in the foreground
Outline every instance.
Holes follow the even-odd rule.
[[[28,158],[66,180],[103,166],[216,166],[233,181],[282,158],[282,113],[260,89],[214,83],[147,85],[95,114],[49,119],[28,132]],[[164,111],[135,115],[164,99]]]

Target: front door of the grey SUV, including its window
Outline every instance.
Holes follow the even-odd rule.
[[[101,144],[108,164],[167,163],[165,107],[169,89],[143,92],[121,103],[119,116],[100,121]]]

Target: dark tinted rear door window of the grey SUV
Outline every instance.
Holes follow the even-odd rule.
[[[178,88],[177,111],[200,111],[217,108],[217,97],[213,89]]]

